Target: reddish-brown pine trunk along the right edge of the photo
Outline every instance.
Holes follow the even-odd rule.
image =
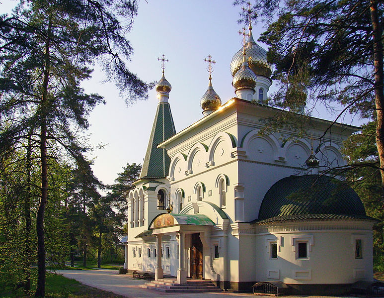
[[[373,28],[373,50],[375,64],[375,105],[376,105],[376,145],[380,160],[382,177],[382,198],[384,202],[384,70],[383,70],[383,41],[382,28],[378,16],[377,0],[370,1],[371,22]]]

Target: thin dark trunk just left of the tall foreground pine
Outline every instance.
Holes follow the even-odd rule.
[[[27,168],[26,168],[26,188],[24,197],[24,217],[25,217],[25,228],[24,228],[24,292],[25,295],[29,296],[31,290],[31,257],[32,257],[32,245],[31,245],[31,172],[32,172],[32,129],[30,130],[27,145]]]

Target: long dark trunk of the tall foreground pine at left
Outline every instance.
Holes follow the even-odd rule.
[[[41,166],[41,196],[36,215],[37,234],[37,287],[35,297],[45,296],[45,243],[44,243],[44,212],[48,198],[48,163],[47,163],[47,124],[48,114],[48,83],[50,71],[50,44],[52,22],[49,19],[47,41],[45,44],[45,67],[43,81],[43,96],[40,104],[40,166]]]

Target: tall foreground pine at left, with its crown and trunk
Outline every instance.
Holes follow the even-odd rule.
[[[87,115],[103,102],[80,88],[97,60],[127,101],[147,97],[149,85],[125,66],[132,47],[124,34],[137,13],[136,0],[24,0],[0,16],[0,154],[38,142],[41,168],[36,216],[38,280],[45,295],[44,213],[49,197],[48,152],[84,163],[78,132]],[[62,150],[64,149],[64,150]]]

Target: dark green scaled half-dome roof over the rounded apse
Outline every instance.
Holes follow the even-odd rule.
[[[343,217],[344,216],[344,217]],[[278,218],[370,218],[356,192],[328,176],[289,176],[265,194],[258,222]]]

